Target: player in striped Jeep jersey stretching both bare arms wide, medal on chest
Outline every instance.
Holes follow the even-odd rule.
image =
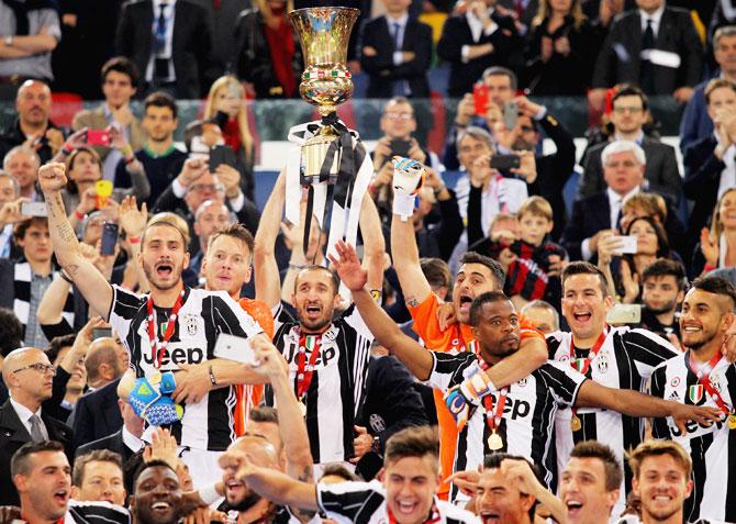
[[[486,372],[520,349],[518,314],[499,291],[477,297],[470,306],[476,350],[448,354],[427,352],[404,335],[364,289],[366,276],[355,249],[337,244],[341,259],[332,259],[366,324],[378,342],[400,358],[422,381],[445,393],[450,412],[466,411],[459,424],[454,471],[476,470],[488,453],[502,450],[531,459],[550,486],[554,477],[551,427],[559,409],[576,405],[601,408],[631,416],[673,416],[679,424],[715,419],[711,410],[683,410],[676,402],[637,391],[605,388],[564,363],[547,363],[510,387],[497,389]],[[475,349],[475,348],[473,348]],[[504,406],[508,406],[504,410]],[[661,413],[661,414],[658,414]],[[458,499],[457,492],[453,499]]]

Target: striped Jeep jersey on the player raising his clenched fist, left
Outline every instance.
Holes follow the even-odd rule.
[[[135,294],[113,286],[110,324],[131,356],[136,377],[150,376],[156,358],[148,337],[147,294]],[[263,330],[225,291],[187,288],[174,334],[161,358],[160,370],[177,370],[180,364],[200,364],[214,358],[220,333],[249,337]],[[155,325],[161,339],[161,323],[169,310],[155,308]],[[196,404],[187,404],[181,422],[171,426],[180,446],[221,451],[235,438],[233,410],[235,391],[231,387],[210,391]]]

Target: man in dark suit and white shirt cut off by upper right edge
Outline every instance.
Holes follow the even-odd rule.
[[[688,237],[700,237],[718,198],[736,186],[736,85],[716,78],[705,88],[707,116],[716,122],[711,134],[692,144],[684,154],[684,194],[694,201],[688,220]]]

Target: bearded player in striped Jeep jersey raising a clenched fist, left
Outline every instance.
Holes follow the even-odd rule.
[[[157,372],[179,371],[174,397],[187,405],[171,431],[178,444],[188,448],[182,458],[198,472],[197,480],[214,481],[219,477],[216,457],[235,434],[235,392],[231,386],[248,380],[248,372],[239,366],[220,366],[222,371],[213,376],[213,367],[219,366],[214,358],[215,334],[253,338],[263,330],[227,293],[183,285],[181,272],[189,264],[187,235],[171,222],[149,223],[140,239],[137,264],[146,275],[150,293],[136,296],[111,286],[81,256],[66,216],[60,194],[66,185],[65,166],[47,164],[38,171],[38,179],[58,261],[90,305],[108,312],[107,320],[131,355],[132,369],[126,375],[153,378]],[[203,361],[210,361],[210,366],[180,366]],[[190,388],[202,374],[210,379],[210,388],[203,393]],[[253,375],[250,378],[258,379]]]

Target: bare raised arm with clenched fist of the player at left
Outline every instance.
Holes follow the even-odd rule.
[[[112,305],[112,287],[97,268],[81,255],[79,241],[64,210],[62,188],[66,186],[66,166],[46,164],[38,169],[38,185],[46,198],[48,231],[56,259],[77,285],[87,302],[108,319]]]

